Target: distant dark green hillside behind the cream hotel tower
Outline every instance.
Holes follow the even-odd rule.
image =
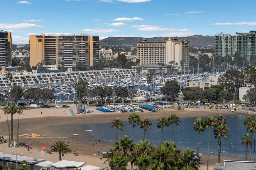
[[[153,37],[153,38],[143,38],[143,37],[108,37],[100,41],[100,45],[137,45],[138,41],[147,39],[147,41],[165,41],[168,37]],[[189,41],[190,47],[205,47],[213,48],[214,47],[214,36],[202,36],[194,35],[187,37],[172,37],[177,38],[178,40],[187,40]]]

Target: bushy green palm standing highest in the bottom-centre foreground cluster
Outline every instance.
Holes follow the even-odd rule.
[[[123,138],[119,137],[120,141],[115,141],[115,150],[123,155],[127,160],[131,162],[131,170],[133,169],[133,163],[135,162],[135,157],[132,155],[133,151],[133,139],[128,139],[128,136],[124,135]]]

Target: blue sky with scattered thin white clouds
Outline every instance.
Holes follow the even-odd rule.
[[[248,0],[0,0],[0,30],[14,44],[41,33],[121,37],[213,36],[256,30]]]

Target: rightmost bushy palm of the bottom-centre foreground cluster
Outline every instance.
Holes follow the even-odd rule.
[[[178,163],[182,165],[180,170],[198,170],[198,167],[200,167],[198,163],[199,159],[198,157],[195,158],[194,151],[189,151],[187,148],[187,150],[184,150],[183,153],[184,154],[182,155],[181,159],[178,161]]]

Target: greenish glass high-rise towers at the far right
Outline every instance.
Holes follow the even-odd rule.
[[[239,53],[250,61],[251,56],[256,55],[256,31],[249,33],[218,34],[215,35],[215,56],[232,56]]]

